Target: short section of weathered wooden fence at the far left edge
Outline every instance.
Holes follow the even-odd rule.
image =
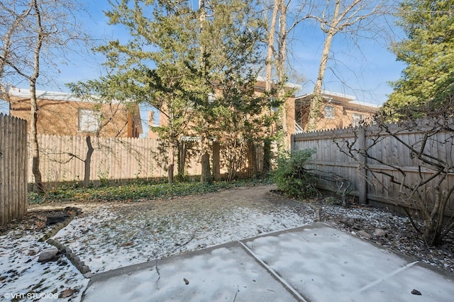
[[[27,212],[27,121],[0,113],[0,225]]]

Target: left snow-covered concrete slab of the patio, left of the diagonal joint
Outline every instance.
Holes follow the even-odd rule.
[[[295,301],[282,284],[235,244],[167,259],[94,281],[84,301]]]

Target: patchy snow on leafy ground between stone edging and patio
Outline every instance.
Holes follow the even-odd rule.
[[[76,217],[53,238],[96,274],[314,222],[309,207],[299,215],[288,208],[177,207],[160,213],[154,203],[135,211],[127,208],[131,206],[102,206]]]

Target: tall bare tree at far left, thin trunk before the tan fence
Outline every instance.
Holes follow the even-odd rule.
[[[39,167],[39,146],[36,133],[38,101],[36,86],[43,74],[43,66],[55,66],[55,59],[64,58],[70,42],[87,42],[80,34],[73,13],[82,11],[77,1],[60,0],[9,0],[0,4],[0,33],[4,33],[0,52],[0,89],[9,100],[9,86],[25,80],[30,86],[31,99],[31,151],[35,191],[44,193]],[[19,13],[21,12],[21,13]],[[44,65],[43,65],[44,63]],[[43,79],[51,79],[50,72]]]

